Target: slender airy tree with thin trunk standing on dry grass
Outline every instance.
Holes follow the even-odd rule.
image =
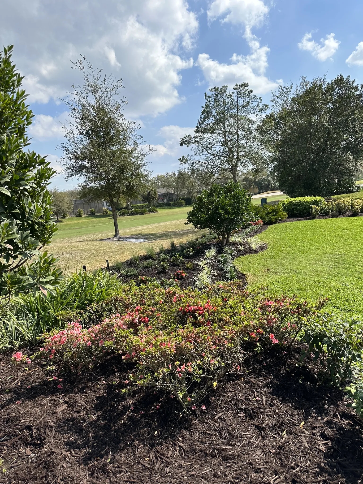
[[[63,99],[70,112],[69,125],[64,125],[66,142],[61,144],[66,177],[83,179],[80,197],[109,203],[119,237],[116,206],[141,192],[150,149],[141,146],[137,123],[123,114],[127,101],[120,97],[121,79],[103,76],[85,57],[75,67],[84,82],[72,86],[72,95]]]

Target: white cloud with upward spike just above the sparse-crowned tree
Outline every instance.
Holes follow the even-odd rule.
[[[233,54],[230,64],[214,61],[208,54],[199,54],[197,65],[203,71],[210,86],[232,86],[240,82],[248,82],[257,94],[264,94],[275,89],[281,81],[271,81],[265,76],[268,67],[267,54],[270,49],[259,41],[247,26],[244,34],[250,46],[251,53],[247,56]]]

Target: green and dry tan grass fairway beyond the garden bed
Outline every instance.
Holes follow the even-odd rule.
[[[183,242],[201,235],[202,231],[185,225],[186,213],[191,207],[160,209],[158,213],[119,217],[120,235],[147,242],[110,241],[114,236],[110,215],[71,217],[62,220],[51,244],[45,250],[60,257],[58,265],[65,272],[77,271],[83,265],[87,270],[112,265],[116,260],[126,260],[134,252],[146,253],[150,244],[155,249],[169,241]]]

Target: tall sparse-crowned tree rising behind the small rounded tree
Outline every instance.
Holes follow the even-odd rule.
[[[180,145],[191,148],[181,164],[199,167],[209,175],[227,173],[237,182],[241,173],[263,162],[257,124],[268,106],[253,94],[247,83],[214,87],[204,95],[205,104],[194,135],[185,135]]]

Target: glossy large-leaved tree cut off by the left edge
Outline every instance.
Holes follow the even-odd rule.
[[[12,50],[0,51],[0,301],[30,290],[46,294],[61,279],[56,259],[41,253],[57,230],[47,190],[55,171],[44,157],[25,151],[34,115]]]

